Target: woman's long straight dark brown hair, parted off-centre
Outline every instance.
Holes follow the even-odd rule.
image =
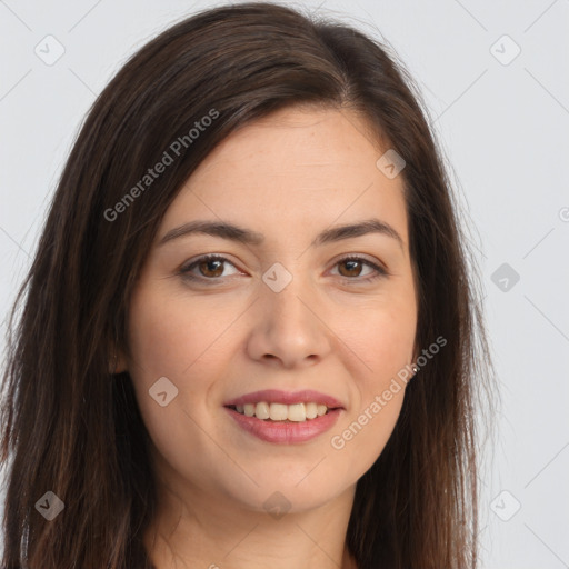
[[[476,567],[477,413],[489,349],[441,152],[418,89],[389,51],[282,6],[226,6],[147,43],[97,98],[10,315],[2,568],[151,567],[142,541],[156,511],[148,432],[131,379],[109,371],[110,355],[128,353],[131,291],[188,177],[230,132],[293,104],[361,113],[406,160],[416,346],[447,340],[408,385],[391,438],[357,483],[349,551],[359,569]],[[142,184],[168,149],[172,163]],[[64,503],[51,521],[37,508],[48,491]]]

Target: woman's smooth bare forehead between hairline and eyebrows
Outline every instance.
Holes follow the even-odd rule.
[[[162,227],[218,218],[270,236],[378,217],[407,242],[402,176],[377,166],[386,150],[351,111],[282,109],[218,144]]]

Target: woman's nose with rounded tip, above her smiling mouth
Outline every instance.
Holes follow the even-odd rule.
[[[333,335],[322,303],[300,279],[280,292],[263,286],[260,296],[250,315],[249,357],[291,369],[313,366],[331,351]]]

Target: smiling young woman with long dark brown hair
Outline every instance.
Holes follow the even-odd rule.
[[[476,567],[488,348],[411,84],[260,2],[112,79],[19,296],[2,567]]]

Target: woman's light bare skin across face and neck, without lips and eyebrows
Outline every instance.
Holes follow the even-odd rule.
[[[379,148],[353,111],[288,108],[233,132],[200,164],[168,209],[131,299],[128,369],[150,433],[159,512],[146,535],[158,569],[356,567],[346,531],[356,482],[381,453],[405,385],[342,449],[331,445],[413,361],[417,293],[402,177],[376,166]],[[330,226],[377,217],[381,233],[310,247]],[[230,221],[260,246],[191,234],[159,244],[192,220]],[[180,268],[204,253],[192,282]],[[339,262],[357,254],[385,267]],[[292,281],[274,292],[276,262]],[[208,280],[209,279],[209,280]],[[216,283],[212,283],[216,280]],[[167,377],[178,396],[157,405]],[[308,442],[264,442],[223,402],[260,389],[315,389],[345,410]],[[263,502],[290,503],[281,518]]]

